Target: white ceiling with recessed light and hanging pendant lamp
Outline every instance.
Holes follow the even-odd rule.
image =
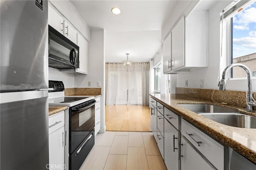
[[[90,28],[103,28],[106,63],[148,62],[161,45],[161,28],[175,0],[72,0]],[[122,10],[120,15],[111,8]]]

